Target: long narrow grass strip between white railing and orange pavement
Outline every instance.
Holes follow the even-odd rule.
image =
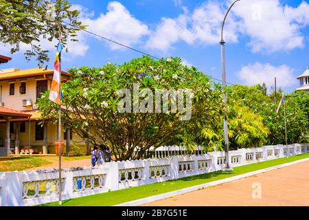
[[[126,188],[123,190],[104,192],[101,194],[90,195],[87,197],[67,199],[63,201],[62,206],[113,206],[119,203],[124,203],[126,201],[133,201],[136,199],[142,199],[153,195],[159,195],[165,192],[171,192],[174,190],[179,190],[190,186],[196,186],[198,184],[205,184],[210,181],[225,179],[227,177],[233,177],[236,175],[241,175],[243,173],[249,173],[255,170],[260,170],[263,168],[277,166],[279,164],[286,164],[288,162],[293,162],[308,157],[309,153],[306,153],[303,155],[295,155],[288,158],[279,158],[269,160],[266,162],[259,162],[255,164],[238,166],[234,168],[233,171],[231,172],[216,171],[212,173],[205,173],[202,175],[195,175],[181,179],[164,181],[161,183],[148,184],[144,186]],[[41,206],[58,206],[58,202],[47,203]]]

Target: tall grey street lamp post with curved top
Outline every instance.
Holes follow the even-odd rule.
[[[227,13],[225,14],[225,18],[222,22],[222,28],[221,28],[221,63],[222,63],[222,88],[223,88],[223,102],[227,103],[227,96],[225,95],[225,87],[227,85],[227,81],[225,78],[225,41],[223,40],[223,28],[225,26],[225,19],[227,19],[227,14],[229,14],[229,11],[233,7],[233,5],[240,0],[234,1],[231,6],[229,7],[229,10],[227,10]],[[231,170],[229,166],[229,135],[227,133],[227,111],[225,109],[225,115],[223,116],[223,128],[225,132],[225,170]]]

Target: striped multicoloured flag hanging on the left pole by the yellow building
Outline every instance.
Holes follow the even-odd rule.
[[[60,79],[60,63],[59,63],[59,56],[61,54],[62,51],[62,45],[59,41],[58,43],[58,47],[57,47],[57,52],[56,52],[56,57],[55,57],[55,70],[54,70],[54,77],[52,80],[52,86],[50,88],[50,92],[49,92],[49,99],[52,100],[53,102],[56,102],[57,104],[60,104],[60,98],[61,98],[61,94],[60,94],[60,83],[61,83],[61,79]]]

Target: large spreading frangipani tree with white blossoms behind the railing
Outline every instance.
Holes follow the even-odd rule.
[[[161,59],[154,61],[148,56],[135,58],[123,65],[106,64],[100,68],[81,67],[69,69],[71,80],[62,85],[63,109],[62,122],[66,129],[73,129],[80,137],[91,144],[106,144],[111,149],[114,159],[143,159],[150,156],[155,148],[162,145],[182,144],[192,133],[185,128],[204,118],[205,124],[212,124],[220,118],[220,88],[212,85],[209,76],[198,72],[195,67],[181,64],[180,58]],[[135,85],[138,85],[137,99],[134,100]],[[124,97],[119,91],[128,89],[132,93],[131,104],[124,104]],[[141,94],[142,89],[148,89],[148,94]],[[156,109],[156,100],[144,102],[149,98],[149,92],[156,94],[158,89],[171,91],[192,91],[192,99],[183,97],[185,108],[191,102],[187,112],[172,111],[175,104],[168,96],[167,112],[162,112],[163,96],[159,97],[162,104],[161,112],[151,112]],[[47,92],[48,93],[48,92]],[[128,95],[128,94],[127,94]],[[126,95],[126,96],[127,96]],[[58,120],[54,102],[47,94],[38,100],[38,109],[45,120]],[[165,97],[166,98],[166,97]],[[179,97],[176,99],[179,107]],[[119,103],[131,112],[119,112]],[[134,107],[140,110],[134,112]],[[142,106],[147,111],[141,113]],[[179,109],[177,109],[179,110]],[[190,111],[190,112],[189,112]],[[180,120],[181,116],[190,113],[190,120]],[[189,131],[189,130],[187,130]]]

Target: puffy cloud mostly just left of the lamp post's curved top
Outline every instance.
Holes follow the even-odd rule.
[[[172,44],[179,41],[185,41],[188,44],[198,42],[205,45],[219,43],[223,17],[222,5],[211,1],[203,3],[192,13],[183,7],[183,14],[176,19],[161,19],[156,30],[150,34],[146,47],[166,52],[172,48]],[[233,17],[229,19],[225,29],[225,39],[237,42],[236,32],[239,28]]]

